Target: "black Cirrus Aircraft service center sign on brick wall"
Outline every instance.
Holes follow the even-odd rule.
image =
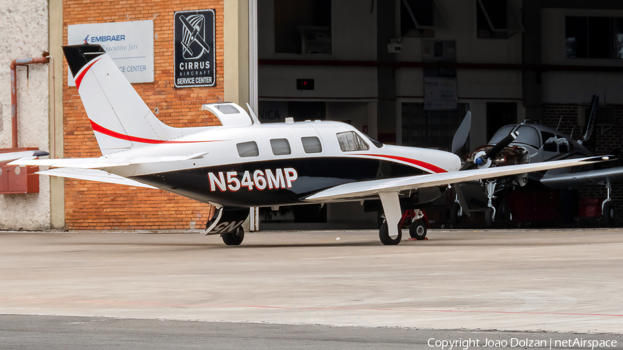
[[[214,86],[214,10],[175,12],[175,87]]]

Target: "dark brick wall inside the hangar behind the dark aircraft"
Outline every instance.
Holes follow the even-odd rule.
[[[578,126],[578,109],[586,106],[567,105],[567,104],[545,104],[543,105],[543,123],[554,129],[559,125],[559,131],[571,134],[575,140],[584,135],[584,130]],[[595,125],[593,136],[587,146],[596,155],[615,154],[621,158],[623,151],[623,105],[614,106],[616,111],[616,121],[613,126]],[[575,127],[575,129],[574,129]],[[618,165],[623,165],[621,160]],[[623,181],[613,181],[612,199],[615,208],[615,222],[617,225],[623,223]],[[606,198],[606,187],[598,183],[590,183],[577,187],[580,198]]]

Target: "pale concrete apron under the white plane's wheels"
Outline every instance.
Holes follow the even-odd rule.
[[[0,313],[622,332],[623,230],[428,237],[0,232]]]

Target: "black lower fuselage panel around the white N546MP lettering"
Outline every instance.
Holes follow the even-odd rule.
[[[298,176],[295,181],[291,182],[289,188],[286,186],[285,188],[270,189],[267,186],[264,190],[258,190],[256,186],[253,186],[253,190],[249,190],[248,186],[244,186],[237,191],[229,189],[222,191],[218,187],[215,187],[214,191],[210,189],[210,179],[208,178],[210,172],[215,176],[222,173],[225,179],[227,172],[236,172],[236,178],[242,181],[245,172],[249,172],[253,178],[255,170],[265,172],[266,169],[270,169],[274,174],[277,169],[286,168],[296,169]],[[204,203],[219,203],[229,207],[262,207],[303,203],[301,199],[343,183],[422,174],[429,173],[417,167],[388,160],[317,157],[217,165],[133,176],[132,178]]]

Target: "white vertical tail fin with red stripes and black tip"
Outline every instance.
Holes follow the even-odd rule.
[[[163,124],[100,45],[63,46],[102,154],[163,143],[181,129]]]

